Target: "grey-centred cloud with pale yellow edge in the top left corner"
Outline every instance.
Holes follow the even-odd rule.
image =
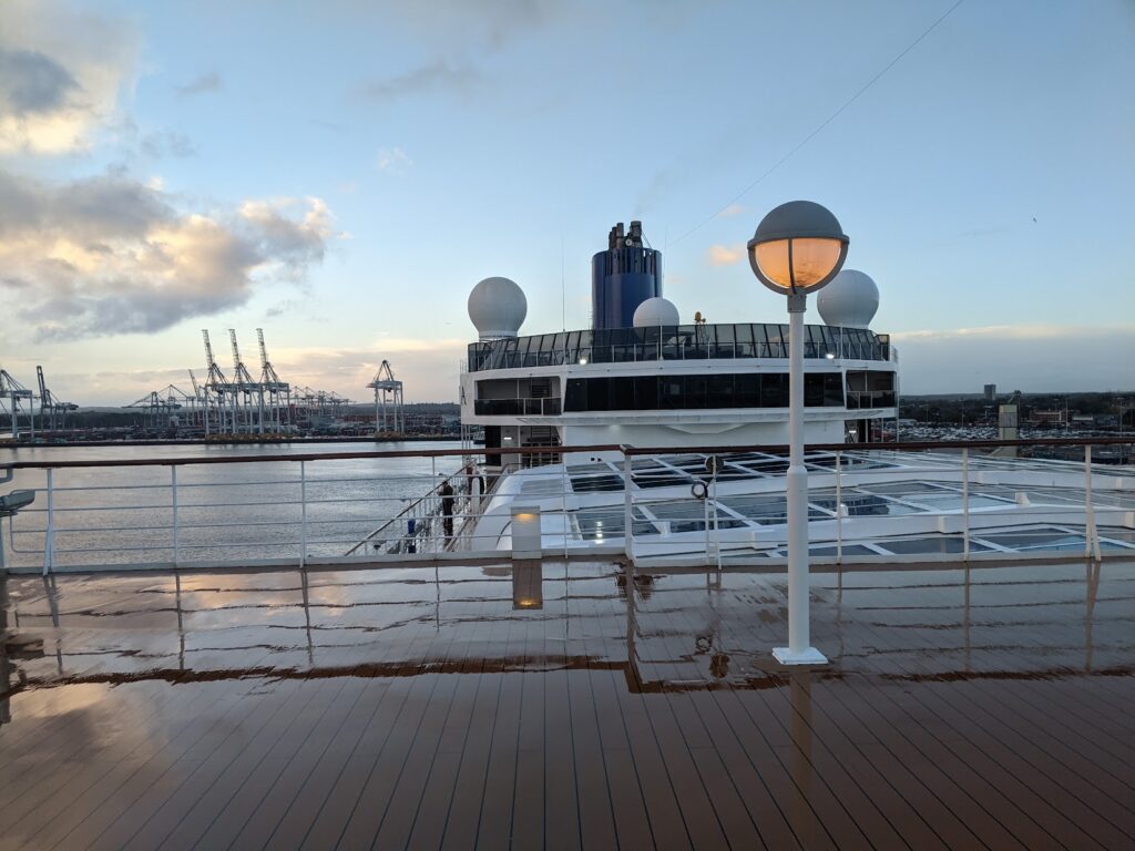
[[[132,82],[137,36],[52,0],[6,0],[0,26],[0,153],[86,148]]]

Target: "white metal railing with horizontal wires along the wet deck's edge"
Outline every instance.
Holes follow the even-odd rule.
[[[1133,443],[808,446],[814,558],[1135,557]],[[1039,449],[1082,456],[998,455]],[[1093,463],[1093,449],[1126,463]],[[549,554],[776,565],[784,452],[600,445],[15,462],[6,478],[36,499],[0,517],[0,568],[499,558],[514,547],[518,511],[539,515],[538,548]],[[528,463],[549,454],[566,465]],[[716,475],[704,455],[720,460]],[[511,461],[481,467],[474,456]],[[1009,522],[1016,531],[999,529]]]

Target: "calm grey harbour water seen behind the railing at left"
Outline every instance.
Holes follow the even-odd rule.
[[[457,449],[460,444],[381,444],[382,450]],[[115,446],[0,449],[9,461],[250,457],[372,452],[373,443],[274,446]],[[343,458],[305,463],[308,553],[343,555],[410,500],[456,472],[459,456]],[[54,471],[54,564],[168,562],[174,550],[171,466]],[[295,557],[303,509],[297,462],[183,465],[177,470],[177,545],[182,562]],[[19,470],[0,485],[41,489],[35,504],[3,522],[9,564],[42,564],[45,473]],[[12,532],[15,536],[12,537]]]

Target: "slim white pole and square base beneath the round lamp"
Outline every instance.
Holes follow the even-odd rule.
[[[789,315],[789,467],[788,497],[788,647],[773,649],[782,665],[823,665],[812,647],[808,613],[808,471],[804,466],[804,311],[806,296],[790,295]]]

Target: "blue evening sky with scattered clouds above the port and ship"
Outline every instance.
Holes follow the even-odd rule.
[[[617,221],[684,321],[784,321],[743,246],[809,199],[905,393],[1135,390],[1133,45],[1130,0],[0,0],[0,368],[127,404],[262,328],[454,401],[477,281],[586,328]]]

